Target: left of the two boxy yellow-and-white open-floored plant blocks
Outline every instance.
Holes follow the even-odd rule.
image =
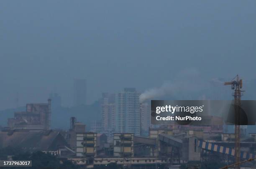
[[[97,155],[97,133],[77,133],[76,134],[76,156],[96,157]]]

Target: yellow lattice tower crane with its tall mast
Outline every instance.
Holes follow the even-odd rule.
[[[237,75],[232,81],[225,82],[224,85],[231,85],[231,89],[234,90],[234,108],[235,108],[235,159],[236,159],[236,169],[240,169],[240,159],[241,159],[241,147],[240,147],[240,106],[241,106],[241,88],[243,87],[242,79],[239,79]]]

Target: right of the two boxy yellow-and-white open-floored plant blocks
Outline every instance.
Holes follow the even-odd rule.
[[[114,156],[132,157],[133,137],[132,133],[114,133]]]

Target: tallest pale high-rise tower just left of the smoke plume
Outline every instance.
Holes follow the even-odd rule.
[[[140,93],[135,88],[125,88],[116,95],[115,131],[141,134]]]

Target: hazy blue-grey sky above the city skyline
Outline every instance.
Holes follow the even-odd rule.
[[[256,78],[255,0],[0,1],[0,109],[88,102],[123,87],[161,86],[184,69],[204,79]],[[234,70],[234,69],[237,70]]]

